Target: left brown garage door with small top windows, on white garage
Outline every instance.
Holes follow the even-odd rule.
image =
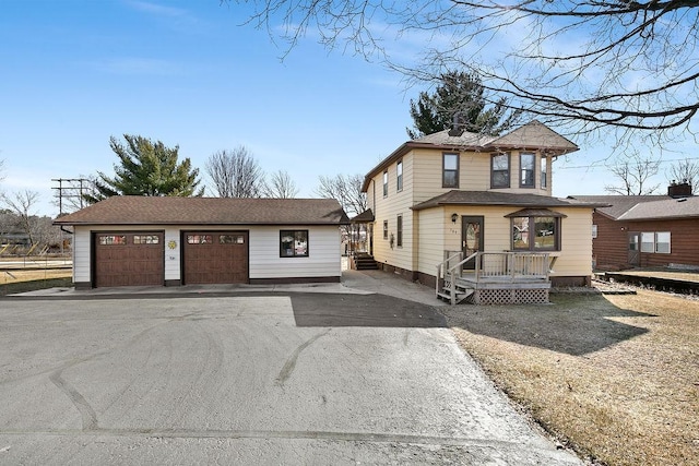
[[[165,246],[161,231],[100,231],[94,235],[95,286],[163,285]]]

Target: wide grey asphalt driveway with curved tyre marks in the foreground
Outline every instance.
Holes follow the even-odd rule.
[[[443,325],[381,295],[0,300],[0,464],[580,464]]]

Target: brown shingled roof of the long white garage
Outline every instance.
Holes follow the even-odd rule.
[[[343,225],[334,199],[116,195],[57,218],[57,225]]]

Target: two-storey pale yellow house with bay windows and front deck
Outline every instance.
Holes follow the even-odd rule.
[[[501,136],[448,130],[404,143],[364,181],[370,254],[381,268],[437,290],[440,270],[476,254],[460,275],[474,270],[508,283],[487,285],[489,298],[473,294],[484,279],[472,284],[463,296],[474,302],[542,302],[550,282],[589,285],[594,204],[552,196],[552,162],[574,151],[538,121]],[[530,268],[537,272],[526,276]],[[535,291],[516,292],[528,287]]]

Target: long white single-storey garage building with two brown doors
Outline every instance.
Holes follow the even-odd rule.
[[[331,199],[112,196],[73,226],[75,287],[340,282]]]

